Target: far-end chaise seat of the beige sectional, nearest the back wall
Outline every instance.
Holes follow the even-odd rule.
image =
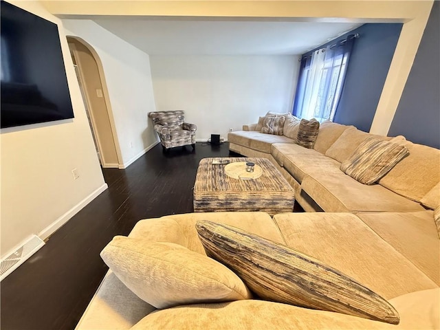
[[[273,143],[294,143],[292,139],[284,135],[264,134],[257,131],[228,133],[228,141],[263,153],[270,153],[270,146]]]

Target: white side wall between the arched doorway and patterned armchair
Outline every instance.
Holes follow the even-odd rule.
[[[148,54],[138,50],[94,21],[65,19],[65,32],[94,48],[104,69],[111,113],[122,157],[129,166],[157,143],[148,112],[155,111]]]

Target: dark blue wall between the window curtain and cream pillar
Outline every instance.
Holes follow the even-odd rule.
[[[355,40],[334,122],[370,131],[402,24],[368,23]]]

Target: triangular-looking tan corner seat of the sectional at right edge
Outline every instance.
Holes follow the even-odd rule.
[[[358,217],[440,285],[440,239],[432,211],[360,213]]]

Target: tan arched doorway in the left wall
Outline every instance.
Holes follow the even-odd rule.
[[[80,38],[67,36],[67,42],[100,164],[104,168],[118,168],[122,157],[99,56]]]

